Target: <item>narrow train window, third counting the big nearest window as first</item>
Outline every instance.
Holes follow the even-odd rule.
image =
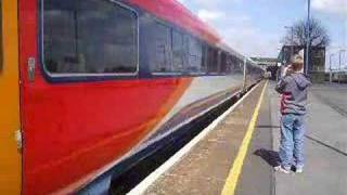
[[[183,35],[172,30],[172,70],[183,72],[185,62],[185,43]]]

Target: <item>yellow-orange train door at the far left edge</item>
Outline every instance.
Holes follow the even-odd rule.
[[[17,1],[0,1],[0,193],[21,194]]]

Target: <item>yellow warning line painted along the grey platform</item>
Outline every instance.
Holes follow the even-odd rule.
[[[268,86],[268,81],[266,82],[266,84],[262,88],[260,99],[258,101],[256,109],[255,109],[253,117],[250,119],[246,135],[243,139],[242,144],[239,148],[236,159],[234,160],[233,166],[231,167],[231,170],[229,171],[229,176],[228,176],[227,181],[224,183],[223,191],[221,192],[221,195],[234,195],[234,193],[235,193],[235,188],[236,188],[236,184],[237,184],[237,181],[239,181],[239,178],[241,174],[243,162],[246,157],[246,154],[247,154],[247,151],[249,147],[249,143],[252,141],[253,132],[254,132],[255,127],[257,125],[259,110],[260,110],[261,102],[262,102],[265,90],[267,89],[267,86]]]

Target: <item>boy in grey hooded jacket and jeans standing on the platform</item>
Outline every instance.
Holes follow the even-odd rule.
[[[297,173],[304,169],[304,116],[306,114],[307,91],[311,82],[303,74],[304,60],[300,55],[292,57],[285,76],[279,81],[275,90],[282,94],[281,100],[281,165],[277,171],[290,173],[295,166]]]

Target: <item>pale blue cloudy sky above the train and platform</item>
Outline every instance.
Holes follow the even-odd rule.
[[[178,1],[214,27],[240,53],[277,57],[286,32],[284,26],[307,17],[308,0]],[[347,47],[347,0],[311,0],[311,15],[322,22],[332,39],[327,55]]]

